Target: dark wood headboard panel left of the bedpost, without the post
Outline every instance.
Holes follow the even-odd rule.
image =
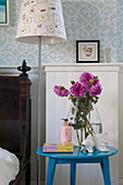
[[[19,156],[20,137],[20,77],[0,76],[0,147]]]

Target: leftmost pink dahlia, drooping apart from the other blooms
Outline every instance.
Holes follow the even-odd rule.
[[[54,86],[53,91],[60,97],[69,96],[69,90],[65,89],[63,86]]]

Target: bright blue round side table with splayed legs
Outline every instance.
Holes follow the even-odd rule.
[[[36,149],[36,153],[39,156],[49,157],[47,185],[53,185],[56,164],[64,163],[70,163],[71,185],[75,185],[76,163],[100,163],[104,185],[111,185],[109,157],[116,155],[118,149],[111,146],[107,146],[107,148],[109,149],[107,152],[97,150],[93,153],[83,153],[79,151],[81,149],[78,147],[74,147],[72,153],[46,153],[42,152],[42,147],[39,147]]]

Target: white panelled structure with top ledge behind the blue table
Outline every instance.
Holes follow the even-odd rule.
[[[110,158],[111,182],[119,185],[123,177],[123,64],[119,63],[74,63],[44,64],[46,71],[46,141],[60,143],[61,119],[66,118],[71,102],[54,95],[54,85],[71,86],[83,72],[98,75],[102,85],[97,108],[103,132],[108,132],[109,145],[119,149],[119,155]],[[120,162],[119,162],[120,161]],[[54,185],[70,184],[69,164],[58,165]],[[99,164],[77,164],[76,185],[103,185]]]

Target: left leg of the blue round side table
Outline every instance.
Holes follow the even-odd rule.
[[[47,185],[53,185],[54,171],[56,171],[56,159],[49,158],[48,172],[47,172]]]

